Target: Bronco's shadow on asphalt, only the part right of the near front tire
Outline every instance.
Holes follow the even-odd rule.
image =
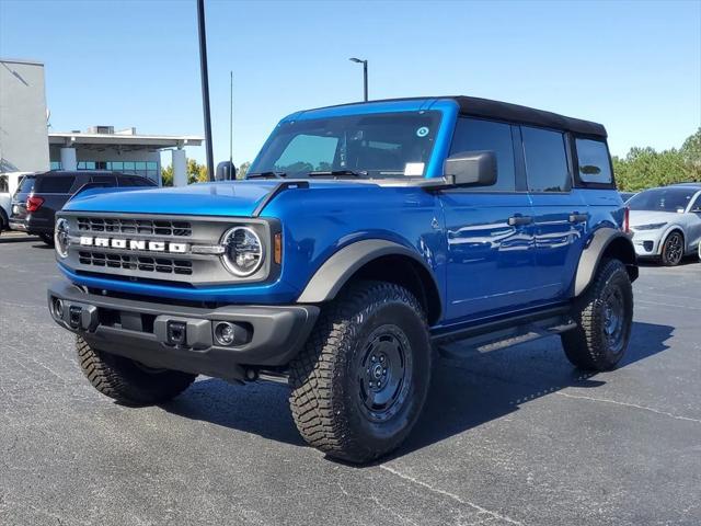
[[[669,348],[666,342],[673,331],[669,325],[634,322],[628,353],[614,371]],[[567,387],[596,391],[606,384],[602,376],[572,366],[558,336],[484,355],[443,359],[416,427],[393,456],[436,444]]]

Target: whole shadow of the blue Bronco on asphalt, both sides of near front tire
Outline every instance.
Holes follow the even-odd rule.
[[[631,345],[618,369],[669,348],[665,342],[673,331],[668,325],[634,322]],[[597,374],[584,373],[567,362],[559,338],[469,354],[461,359],[440,358],[414,431],[398,451],[381,461],[497,420],[566,387],[596,388],[604,384]],[[288,395],[289,389],[281,385],[235,386],[205,378],[162,408],[187,419],[304,446],[289,412]]]

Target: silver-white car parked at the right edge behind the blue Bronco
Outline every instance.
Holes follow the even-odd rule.
[[[651,188],[628,201],[630,228],[639,258],[678,265],[701,242],[701,183]]]

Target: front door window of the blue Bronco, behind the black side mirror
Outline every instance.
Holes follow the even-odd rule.
[[[516,164],[514,162],[512,126],[479,118],[460,117],[452,137],[450,155],[479,150],[494,151],[496,156],[496,184],[474,187],[471,191],[515,192]]]

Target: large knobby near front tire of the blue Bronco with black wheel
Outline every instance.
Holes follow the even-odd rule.
[[[391,343],[393,338],[397,341]],[[374,347],[376,342],[380,343]],[[368,364],[371,376],[368,353],[386,348],[382,345],[407,347],[403,365],[394,366],[403,367],[405,380],[400,384],[405,396],[398,396],[378,416],[375,407],[368,409],[361,401],[364,393],[367,398],[371,391],[363,390],[367,377],[364,380],[361,374]],[[388,356],[386,363],[392,362],[401,361]],[[304,348],[291,364],[289,401],[295,424],[310,445],[331,457],[350,462],[378,458],[395,449],[416,423],[428,392],[430,369],[428,324],[416,298],[390,283],[353,284],[323,308]],[[398,373],[393,380],[399,377]],[[379,390],[380,384],[376,386]]]

